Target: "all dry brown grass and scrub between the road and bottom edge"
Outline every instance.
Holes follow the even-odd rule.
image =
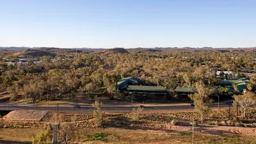
[[[250,109],[246,120],[255,120],[255,111],[255,109]],[[214,110],[205,118],[215,120],[212,122],[220,122],[222,125],[231,125],[233,122],[226,120],[226,114],[227,109]],[[92,113],[89,115],[60,113],[59,120],[72,124],[81,137],[79,142],[82,143],[191,143],[190,118],[193,117],[195,120],[200,118],[194,111],[162,114],[141,113],[139,120],[132,120],[129,115],[127,113],[105,113],[103,128],[93,128]],[[52,112],[47,113],[42,122],[4,122],[7,128],[0,129],[0,140],[1,138],[8,140],[10,138],[8,132],[11,131],[13,132],[11,136],[14,136],[16,131],[13,129],[19,127],[31,127],[31,131],[36,134],[35,127],[44,129],[47,126],[46,122],[56,121],[55,117],[56,113]],[[171,122],[173,119],[178,120],[179,123],[173,125]],[[27,128],[23,129],[24,132],[28,131]],[[23,130],[17,129],[17,132],[20,131]],[[31,138],[31,135],[28,134],[28,136]],[[28,136],[25,136],[24,140],[19,138],[10,140],[28,141],[30,140]],[[256,143],[255,136],[254,128],[205,124],[199,124],[195,128],[195,143]]]

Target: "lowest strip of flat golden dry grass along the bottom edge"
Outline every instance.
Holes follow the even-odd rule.
[[[31,141],[41,129],[0,129],[0,141]],[[78,129],[80,143],[191,143],[191,134],[133,129]],[[256,143],[255,136],[195,134],[195,143]]]

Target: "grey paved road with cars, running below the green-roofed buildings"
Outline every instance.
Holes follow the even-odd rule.
[[[142,105],[142,104],[141,104]],[[103,111],[108,112],[129,112],[132,108],[136,108],[140,106],[140,104],[134,104],[131,106],[102,106]],[[170,105],[170,106],[147,106],[147,104],[143,105],[145,106],[144,111],[174,111],[174,110],[186,110],[186,109],[194,109],[193,107],[190,107],[188,105]],[[218,104],[214,104],[212,108],[218,108]],[[228,108],[228,104],[220,104],[220,108]],[[57,111],[57,106],[31,106],[31,105],[24,105],[24,104],[0,104],[0,111],[1,110],[15,110],[15,109],[31,109],[31,110],[40,110],[40,111]],[[59,106],[59,111],[93,111],[92,106],[81,106],[81,108],[74,108],[73,106]]]

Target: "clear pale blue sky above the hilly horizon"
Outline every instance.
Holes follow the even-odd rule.
[[[254,47],[256,0],[0,0],[0,46]]]

